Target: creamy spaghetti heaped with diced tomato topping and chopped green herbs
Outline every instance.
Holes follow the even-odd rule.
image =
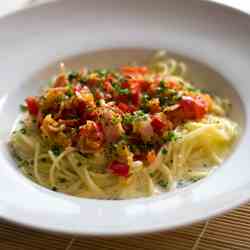
[[[25,176],[98,199],[152,196],[208,176],[239,134],[229,102],[164,51],[147,66],[61,72],[21,108],[10,148]]]

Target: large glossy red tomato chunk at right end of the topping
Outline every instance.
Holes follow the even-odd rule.
[[[191,96],[182,97],[180,108],[182,109],[185,119],[201,119],[206,113],[204,100]]]

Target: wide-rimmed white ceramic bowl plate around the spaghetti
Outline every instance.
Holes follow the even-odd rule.
[[[197,0],[76,0],[4,18],[0,34],[2,218],[71,234],[134,234],[206,219],[250,198],[248,15]],[[6,146],[8,136],[19,104],[46,84],[57,62],[110,66],[143,61],[153,49],[184,56],[197,81],[232,100],[242,136],[221,168],[185,189],[125,201],[66,196],[20,174]]]

